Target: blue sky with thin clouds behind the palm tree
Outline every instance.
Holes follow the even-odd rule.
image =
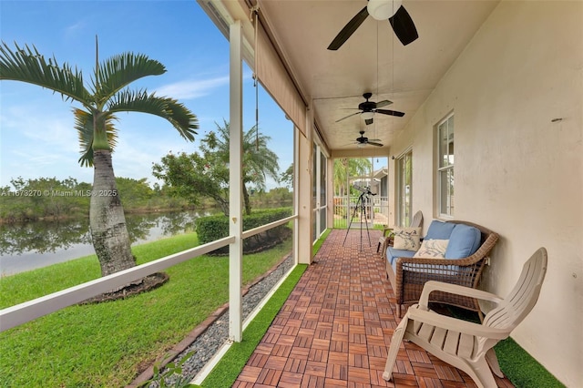
[[[77,66],[87,81],[95,64],[96,35],[102,59],[131,51],[159,60],[167,73],[139,80],[132,88],[178,98],[199,117],[199,135],[189,143],[159,117],[118,116],[116,176],[152,183],[153,162],[169,151],[196,151],[198,139],[214,129],[215,122],[229,120],[229,43],[194,0],[0,1],[0,36],[5,43],[34,45],[59,64]],[[255,90],[251,70],[244,69],[247,130],[255,124]],[[77,162],[72,107],[78,105],[40,87],[0,82],[0,186],[17,177],[93,181],[93,168]],[[259,107],[259,127],[271,137],[270,148],[280,157],[283,171],[293,159],[292,122],[262,88]]]

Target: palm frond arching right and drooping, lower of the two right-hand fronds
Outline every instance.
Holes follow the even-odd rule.
[[[142,112],[165,118],[179,131],[182,138],[194,140],[199,129],[199,119],[188,107],[169,97],[157,97],[146,90],[122,90],[113,96],[107,105],[107,111]]]

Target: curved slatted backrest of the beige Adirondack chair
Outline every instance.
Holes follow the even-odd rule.
[[[514,289],[496,309],[486,314],[484,325],[508,332],[517,327],[535,307],[546,273],[547,250],[539,248],[522,267]]]

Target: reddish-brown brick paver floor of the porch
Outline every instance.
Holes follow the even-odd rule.
[[[411,342],[402,345],[394,381],[383,380],[400,319],[376,253],[380,231],[370,235],[371,246],[366,230],[348,236],[332,230],[233,386],[476,387],[467,374]]]

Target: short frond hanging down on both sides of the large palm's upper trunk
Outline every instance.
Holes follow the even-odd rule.
[[[91,167],[93,166],[93,113],[74,108],[73,115],[75,117],[75,129],[77,129],[79,146],[81,147],[79,164],[83,167]],[[115,120],[117,120],[117,117],[114,115],[109,115],[106,119],[107,141],[111,149],[114,149],[118,144],[118,131],[113,125]]]

